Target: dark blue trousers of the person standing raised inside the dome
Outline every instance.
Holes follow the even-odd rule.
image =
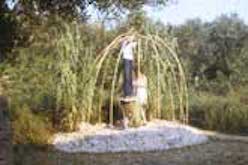
[[[124,96],[133,96],[133,60],[123,59],[124,67],[124,83],[123,83],[123,92]]]

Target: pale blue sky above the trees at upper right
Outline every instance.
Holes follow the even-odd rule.
[[[174,0],[175,1],[175,0]],[[176,0],[166,7],[145,7],[149,17],[165,24],[180,25],[188,19],[212,21],[223,14],[237,13],[248,24],[248,0]]]

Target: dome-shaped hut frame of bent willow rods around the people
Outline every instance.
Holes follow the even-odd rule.
[[[158,35],[127,32],[116,37],[95,60],[96,71],[91,106],[102,114],[107,101],[108,118],[114,123],[116,105],[121,97],[121,43],[129,37],[137,41],[135,65],[148,78],[148,118],[188,121],[187,82],[173,42]],[[111,67],[111,68],[110,68]],[[98,95],[98,99],[96,99]],[[133,108],[135,111],[135,108]],[[100,115],[101,116],[101,115]],[[101,120],[101,119],[99,119]]]

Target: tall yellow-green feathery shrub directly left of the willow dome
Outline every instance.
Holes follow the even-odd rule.
[[[57,21],[57,27],[48,27],[49,22],[37,28],[33,43],[15,49],[17,58],[3,67],[12,82],[7,94],[13,112],[23,104],[29,109],[52,111],[50,118],[59,117],[59,128],[71,131],[93,113],[89,112],[89,96],[93,93],[92,52],[96,45],[90,40],[85,44],[83,25]]]

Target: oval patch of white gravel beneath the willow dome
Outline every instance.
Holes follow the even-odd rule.
[[[190,126],[161,120],[125,130],[82,123],[77,132],[56,134],[53,145],[69,153],[157,151],[206,142],[208,137],[198,132]]]

